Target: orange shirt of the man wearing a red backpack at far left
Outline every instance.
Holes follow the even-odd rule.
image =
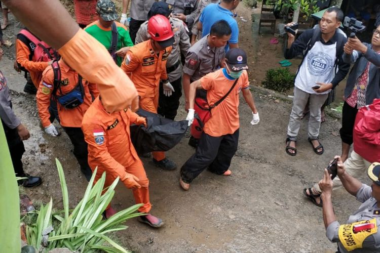
[[[29,60],[30,50],[20,39],[16,39],[16,61],[30,73],[35,88],[39,88],[42,72],[48,62],[33,62]]]

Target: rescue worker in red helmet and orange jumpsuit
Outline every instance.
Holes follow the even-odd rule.
[[[166,61],[174,44],[171,24],[163,15],[155,15],[148,21],[150,39],[130,48],[122,63],[122,69],[133,81],[140,97],[140,108],[157,113],[160,79],[164,94],[174,92],[166,73]],[[156,166],[174,170],[177,165],[165,157],[164,152],[153,152]]]

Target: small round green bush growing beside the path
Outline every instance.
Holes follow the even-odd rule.
[[[261,82],[264,88],[277,92],[287,92],[294,84],[295,74],[287,68],[268,69],[265,79]]]

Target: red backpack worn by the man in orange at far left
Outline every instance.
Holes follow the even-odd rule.
[[[51,60],[58,60],[58,52],[46,44],[44,41],[37,38],[30,31],[21,29],[17,34],[17,38],[20,39],[26,46],[28,46],[30,55],[29,60],[33,62],[49,62]],[[17,62],[19,68],[25,72],[27,70]]]

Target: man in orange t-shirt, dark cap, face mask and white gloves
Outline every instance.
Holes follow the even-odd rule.
[[[217,175],[232,174],[229,167],[239,140],[240,91],[252,110],[251,124],[257,124],[260,120],[249,90],[246,53],[242,49],[232,49],[225,55],[225,62],[225,68],[209,73],[190,85],[186,117],[189,125],[194,121],[197,89],[207,91],[207,101],[212,109],[210,119],[204,123],[196,153],[181,167],[179,183],[184,190],[188,190],[189,184],[206,168]],[[221,98],[224,99],[219,102]]]

